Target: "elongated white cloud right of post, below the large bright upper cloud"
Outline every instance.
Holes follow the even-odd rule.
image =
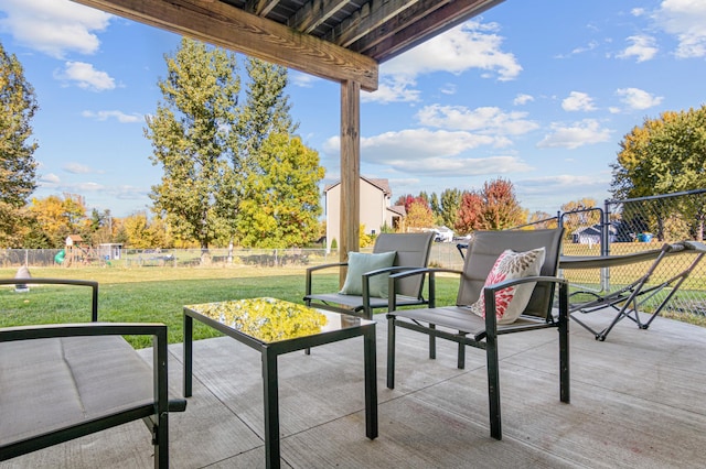
[[[504,112],[495,107],[481,107],[471,110],[462,106],[432,105],[417,112],[417,119],[422,126],[475,131],[495,138],[499,135],[520,135],[539,127],[526,117],[527,112]]]

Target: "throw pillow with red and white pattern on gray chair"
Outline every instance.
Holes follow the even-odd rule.
[[[483,287],[505,280],[539,275],[542,264],[544,264],[544,248],[526,252],[505,250],[495,261]],[[527,307],[527,303],[530,303],[535,285],[536,282],[532,282],[509,286],[495,292],[495,317],[499,325],[512,324],[520,317],[525,307]],[[471,310],[481,317],[485,317],[485,299],[483,298],[482,290],[480,298],[471,305]]]

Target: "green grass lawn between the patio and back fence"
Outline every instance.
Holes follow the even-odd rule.
[[[163,323],[169,342],[183,341],[182,307],[186,304],[271,296],[303,303],[303,269],[32,269],[33,277],[93,280],[99,283],[98,320],[108,323]],[[0,269],[3,279],[17,269]],[[314,279],[315,292],[338,288],[338,273]],[[456,279],[437,280],[439,302],[456,298]],[[442,303],[441,303],[442,304]],[[90,319],[90,288],[34,285],[28,293],[12,286],[0,290],[0,327],[28,324],[81,323]],[[194,323],[194,338],[215,337],[213,329]],[[148,337],[128,337],[133,347],[151,345]]]

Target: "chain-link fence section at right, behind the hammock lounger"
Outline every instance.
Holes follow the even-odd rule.
[[[606,200],[603,208],[590,207],[559,216],[566,229],[565,255],[620,255],[660,249],[663,243],[703,241],[706,220],[706,189],[625,200]],[[661,284],[686,269],[696,254],[665,258],[650,279]],[[611,269],[566,270],[564,275],[577,290],[614,292],[644,275],[651,261]],[[668,295],[661,291],[643,305],[650,310]],[[706,262],[699,263],[682,284],[666,308],[675,313],[706,314]]]

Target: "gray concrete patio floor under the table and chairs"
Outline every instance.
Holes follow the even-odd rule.
[[[584,316],[589,323],[605,313]],[[398,331],[385,386],[386,321],[376,316],[379,437],[365,437],[363,340],[279,359],[281,463],[288,468],[687,468],[706,463],[706,328],[621,321],[605,342],[571,321],[571,403],[559,402],[556,330],[500,339],[503,439],[490,438],[485,356]],[[170,347],[181,395],[182,347]],[[145,351],[149,359],[149,351]],[[170,415],[173,468],[265,467],[259,353],[231,338],[194,343],[194,394]],[[36,451],[0,468],[151,468],[141,423]]]

